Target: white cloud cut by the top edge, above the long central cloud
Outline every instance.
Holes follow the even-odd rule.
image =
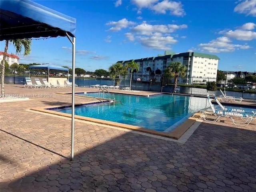
[[[186,13],[182,8],[182,3],[177,1],[163,0],[134,0],[133,3],[137,6],[137,13],[141,14],[142,8],[148,8],[155,13],[166,14],[169,12],[171,15],[184,16]]]

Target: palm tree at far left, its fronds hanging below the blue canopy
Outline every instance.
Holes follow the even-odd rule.
[[[6,54],[8,50],[8,44],[11,43],[14,45],[14,48],[16,49],[16,54],[20,54],[22,52],[24,47],[24,56],[30,54],[31,52],[31,39],[25,38],[25,39],[16,39],[16,40],[6,40],[5,41],[5,47],[4,47],[4,56],[3,60],[1,61],[2,64],[2,70],[1,70],[1,97],[5,96],[4,93],[4,71],[5,71],[5,65],[4,61],[6,59]]]

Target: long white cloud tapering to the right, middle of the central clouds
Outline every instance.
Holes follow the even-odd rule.
[[[143,22],[140,25],[137,25],[134,27],[132,30],[134,32],[137,32],[142,35],[152,35],[156,32],[159,33],[171,33],[174,32],[175,30],[178,29],[184,29],[187,28],[188,26],[183,24],[183,25],[173,25],[173,24],[168,24],[168,25],[150,25],[147,24],[146,22]]]

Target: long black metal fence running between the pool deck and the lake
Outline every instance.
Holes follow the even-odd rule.
[[[28,77],[28,70],[14,70],[6,73],[5,84],[24,84],[25,77]],[[50,71],[50,77],[68,78],[67,74],[61,74],[58,71]],[[110,78],[100,76],[93,78],[94,74],[80,75],[75,78],[75,83],[80,87],[90,87],[96,84],[100,85],[118,85],[122,87],[130,87],[130,75],[119,78]],[[30,76],[48,77],[48,73],[31,71]],[[69,78],[70,82],[72,78]],[[217,83],[216,83],[217,82]],[[227,96],[242,97],[244,99],[256,100],[256,83],[246,82],[243,78],[233,78],[216,80],[216,78],[178,78],[178,86],[180,86],[180,93],[192,95],[222,95],[221,90],[226,90]],[[174,78],[167,78],[162,75],[132,75],[131,90],[144,90],[154,92],[173,92]]]

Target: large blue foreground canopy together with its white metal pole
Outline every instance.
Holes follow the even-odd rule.
[[[0,41],[66,36],[72,44],[71,160],[74,160],[76,19],[30,0],[0,1]]]

